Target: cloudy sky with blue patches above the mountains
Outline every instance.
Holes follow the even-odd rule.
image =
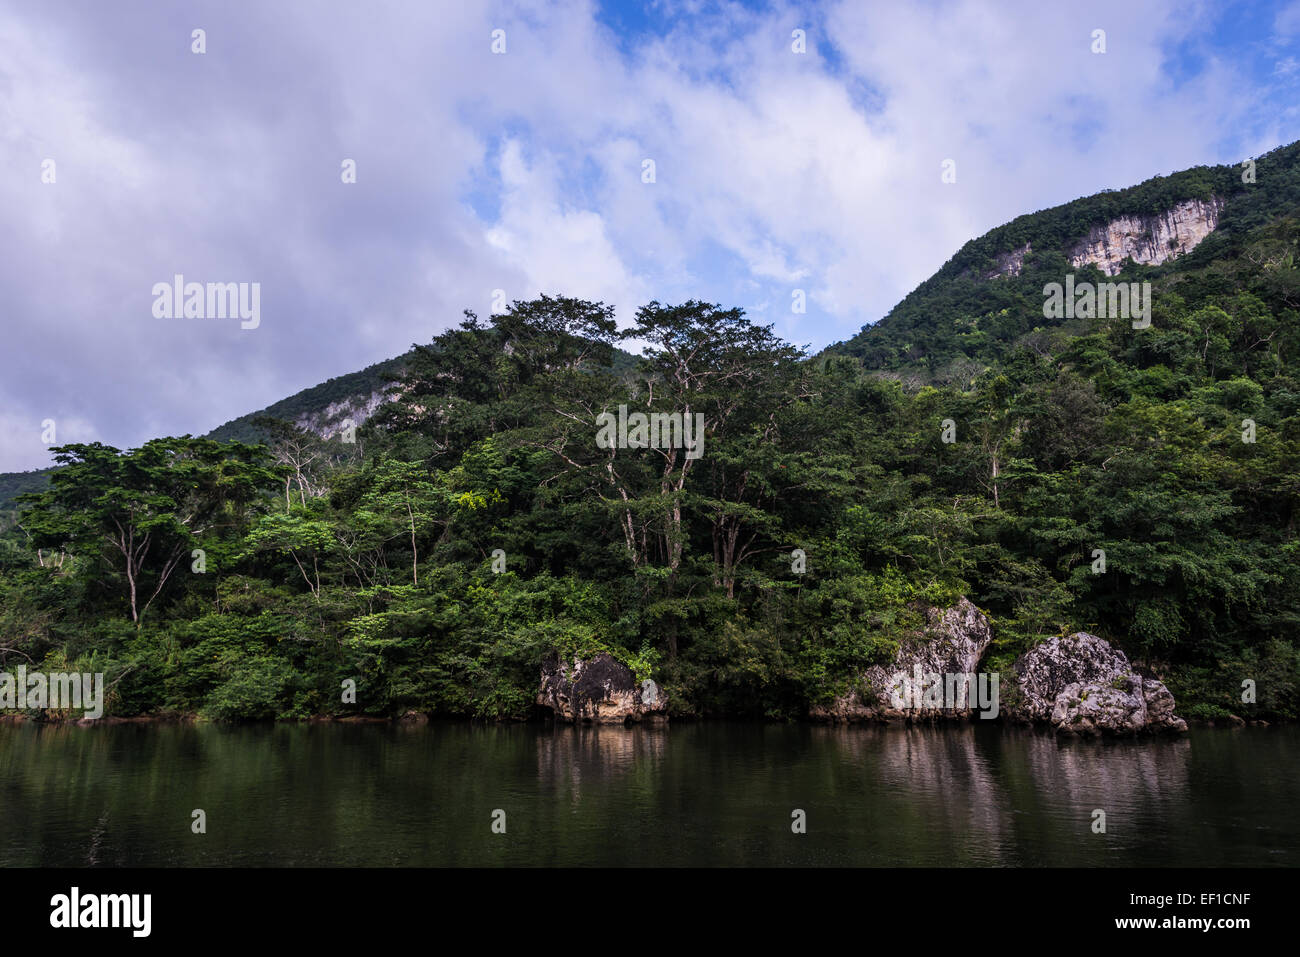
[[[542,293],[815,351],[1015,216],[1300,139],[1297,94],[1300,0],[0,0],[0,471]]]

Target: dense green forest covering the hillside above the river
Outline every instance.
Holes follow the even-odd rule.
[[[1190,170],[1017,220],[819,356],[723,306],[619,329],[543,296],[403,356],[355,442],[61,446],[0,537],[3,667],[104,672],[117,715],[494,719],[532,713],[546,655],[607,650],[676,714],[798,718],[967,596],[989,670],[1083,629],[1186,716],[1294,718],[1295,151],[1257,187]],[[1152,281],[1150,328],[1043,320],[1063,243],[1188,190],[1236,198],[1117,277]],[[1028,239],[1024,274],[978,278]],[[620,404],[702,413],[702,454],[601,447]]]

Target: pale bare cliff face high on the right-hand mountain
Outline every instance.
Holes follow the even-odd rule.
[[[1214,196],[1184,200],[1162,216],[1121,216],[1091,229],[1070,250],[1070,265],[1093,263],[1106,276],[1114,276],[1130,256],[1143,265],[1167,263],[1213,233],[1222,211],[1223,200]]]

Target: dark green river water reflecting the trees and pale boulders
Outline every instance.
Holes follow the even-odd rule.
[[[0,724],[6,867],[1295,866],[1297,810],[1296,728]]]

